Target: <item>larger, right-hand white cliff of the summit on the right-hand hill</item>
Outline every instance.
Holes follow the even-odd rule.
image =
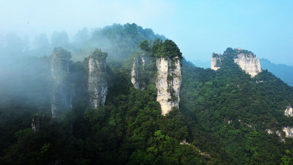
[[[237,48],[238,52],[241,51],[240,48]],[[250,74],[251,77],[254,77],[261,72],[259,58],[256,58],[253,53],[237,54],[237,58],[234,58],[234,62],[239,65],[240,68],[245,70],[246,73]]]

